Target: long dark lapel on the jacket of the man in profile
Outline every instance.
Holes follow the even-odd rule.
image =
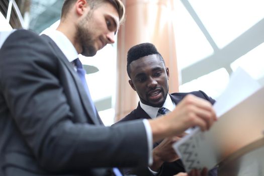
[[[54,54],[57,56],[57,58],[59,58],[59,60],[66,66],[66,68],[71,73],[73,80],[75,81],[77,90],[79,92],[82,105],[84,109],[86,110],[86,113],[89,114],[89,116],[91,117],[91,119],[94,121],[95,124],[103,124],[98,113],[97,113],[97,117],[95,117],[94,113],[92,113],[93,108],[91,104],[93,104],[93,102],[88,103],[89,99],[87,97],[87,94],[84,90],[84,87],[81,83],[80,78],[78,77],[76,71],[74,70],[73,65],[68,61],[66,56],[62,53],[62,51],[59,49],[59,47],[55,44],[55,42],[50,37],[46,35],[42,35],[41,37],[43,37],[45,40],[48,41],[48,43],[52,46],[51,48],[54,50]]]

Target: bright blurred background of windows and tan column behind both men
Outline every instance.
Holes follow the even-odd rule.
[[[128,83],[126,53],[155,44],[169,67],[170,93],[202,90],[214,99],[229,76],[243,68],[264,85],[264,1],[123,0],[126,21],[94,57],[80,56],[87,84],[105,125],[127,115],[139,101]],[[8,31],[56,29],[63,0],[1,0],[0,45]]]

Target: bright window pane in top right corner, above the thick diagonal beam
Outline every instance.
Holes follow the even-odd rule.
[[[223,48],[264,18],[264,1],[189,2],[219,48]]]

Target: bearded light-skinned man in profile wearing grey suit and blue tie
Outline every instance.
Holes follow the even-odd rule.
[[[152,141],[193,125],[210,128],[215,112],[194,97],[186,102],[199,111],[189,123],[192,117],[173,111],[103,125],[77,57],[114,43],[124,12],[120,0],[65,0],[48,36],[17,30],[7,38],[0,49],[0,175],[120,175],[113,167],[151,164]]]

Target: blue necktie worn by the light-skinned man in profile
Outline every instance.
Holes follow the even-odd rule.
[[[87,85],[86,79],[85,79],[86,71],[82,68],[82,64],[81,64],[79,58],[75,59],[73,62],[75,64],[75,66],[76,66],[77,74],[80,77],[81,83],[82,83],[82,85],[83,85],[83,87],[85,89],[87,97],[88,97],[88,99],[91,102],[91,105],[93,107],[94,116],[97,117],[96,107],[95,107],[95,105],[94,105],[94,103],[92,101],[92,98],[91,98],[91,95],[90,95],[90,91],[89,91],[89,88],[88,88],[88,85]]]

